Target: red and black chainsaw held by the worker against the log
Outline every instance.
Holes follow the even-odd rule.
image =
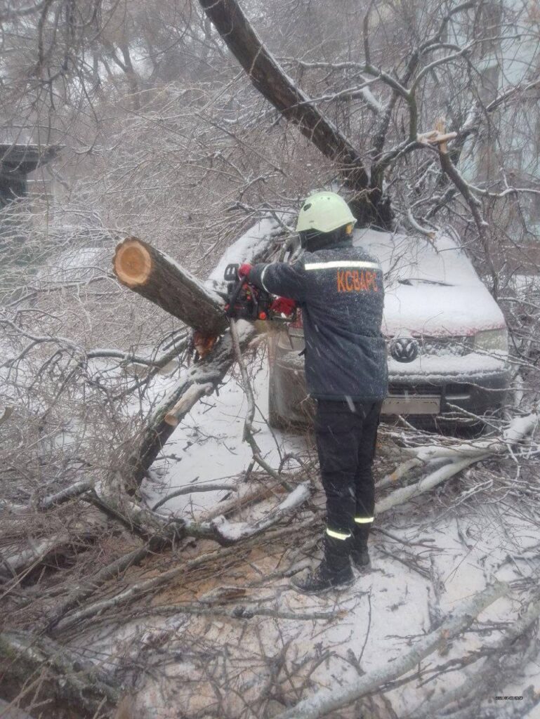
[[[250,285],[247,278],[238,277],[239,265],[227,265],[224,279],[227,283],[225,313],[234,319],[255,321],[293,322],[296,308],[286,316],[276,310],[276,299],[265,290]]]

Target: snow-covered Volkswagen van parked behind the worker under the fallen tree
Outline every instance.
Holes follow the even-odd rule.
[[[385,274],[383,414],[470,421],[500,407],[508,389],[508,333],[497,303],[448,234],[433,241],[356,229],[353,244]],[[270,345],[270,422],[310,415],[301,313]],[[307,411],[306,411],[307,410]]]

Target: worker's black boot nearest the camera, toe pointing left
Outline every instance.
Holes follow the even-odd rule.
[[[351,538],[336,539],[324,535],[324,558],[319,567],[304,580],[293,580],[296,590],[304,594],[320,594],[331,589],[349,587],[354,582],[349,551]]]

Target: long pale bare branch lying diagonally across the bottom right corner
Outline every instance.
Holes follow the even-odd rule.
[[[411,672],[417,665],[439,647],[444,647],[469,628],[477,616],[496,600],[508,594],[507,584],[496,583],[459,605],[454,613],[443,621],[441,626],[416,642],[411,651],[398,656],[382,669],[370,672],[356,681],[337,690],[323,689],[312,697],[298,702],[295,706],[278,716],[277,719],[316,719],[341,707],[346,707],[357,699],[377,692],[382,684]]]

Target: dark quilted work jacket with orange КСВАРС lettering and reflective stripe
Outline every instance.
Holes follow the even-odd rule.
[[[388,389],[383,273],[351,241],[304,252],[288,265],[255,265],[250,282],[296,300],[306,340],[306,384],[312,397],[377,402]]]

